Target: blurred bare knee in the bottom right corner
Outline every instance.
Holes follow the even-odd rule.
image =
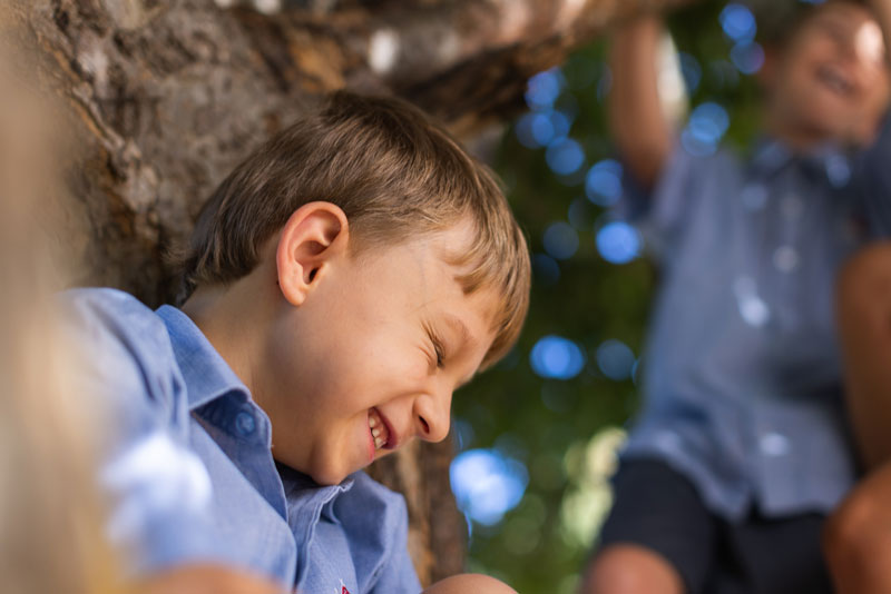
[[[863,479],[832,515],[823,548],[841,594],[891,592],[891,464]]]

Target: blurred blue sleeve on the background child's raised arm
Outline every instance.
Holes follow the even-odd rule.
[[[676,142],[650,190],[645,189],[625,168],[623,192],[614,215],[635,225],[647,251],[660,264],[673,260],[678,239],[686,231],[697,190],[698,171],[714,157],[696,157]]]

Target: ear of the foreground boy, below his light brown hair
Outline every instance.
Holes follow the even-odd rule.
[[[300,306],[339,256],[346,255],[346,215],[331,202],[310,202],[291,215],[278,237],[275,264],[278,288]]]

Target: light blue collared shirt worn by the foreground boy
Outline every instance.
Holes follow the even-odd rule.
[[[402,497],[364,473],[317,486],[276,467],[268,417],[185,314],[112,289],[62,305],[82,347],[75,390],[106,415],[108,531],[134,573],[218,562],[300,592],[420,592]]]

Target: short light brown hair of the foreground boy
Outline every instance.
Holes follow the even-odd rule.
[[[255,150],[205,204],[183,260],[184,293],[233,281],[302,205],[327,201],[350,221],[354,254],[444,230],[463,220],[474,239],[454,246],[464,293],[491,288],[495,341],[483,367],[519,335],[529,306],[526,240],[495,174],[409,103],[339,91]]]

